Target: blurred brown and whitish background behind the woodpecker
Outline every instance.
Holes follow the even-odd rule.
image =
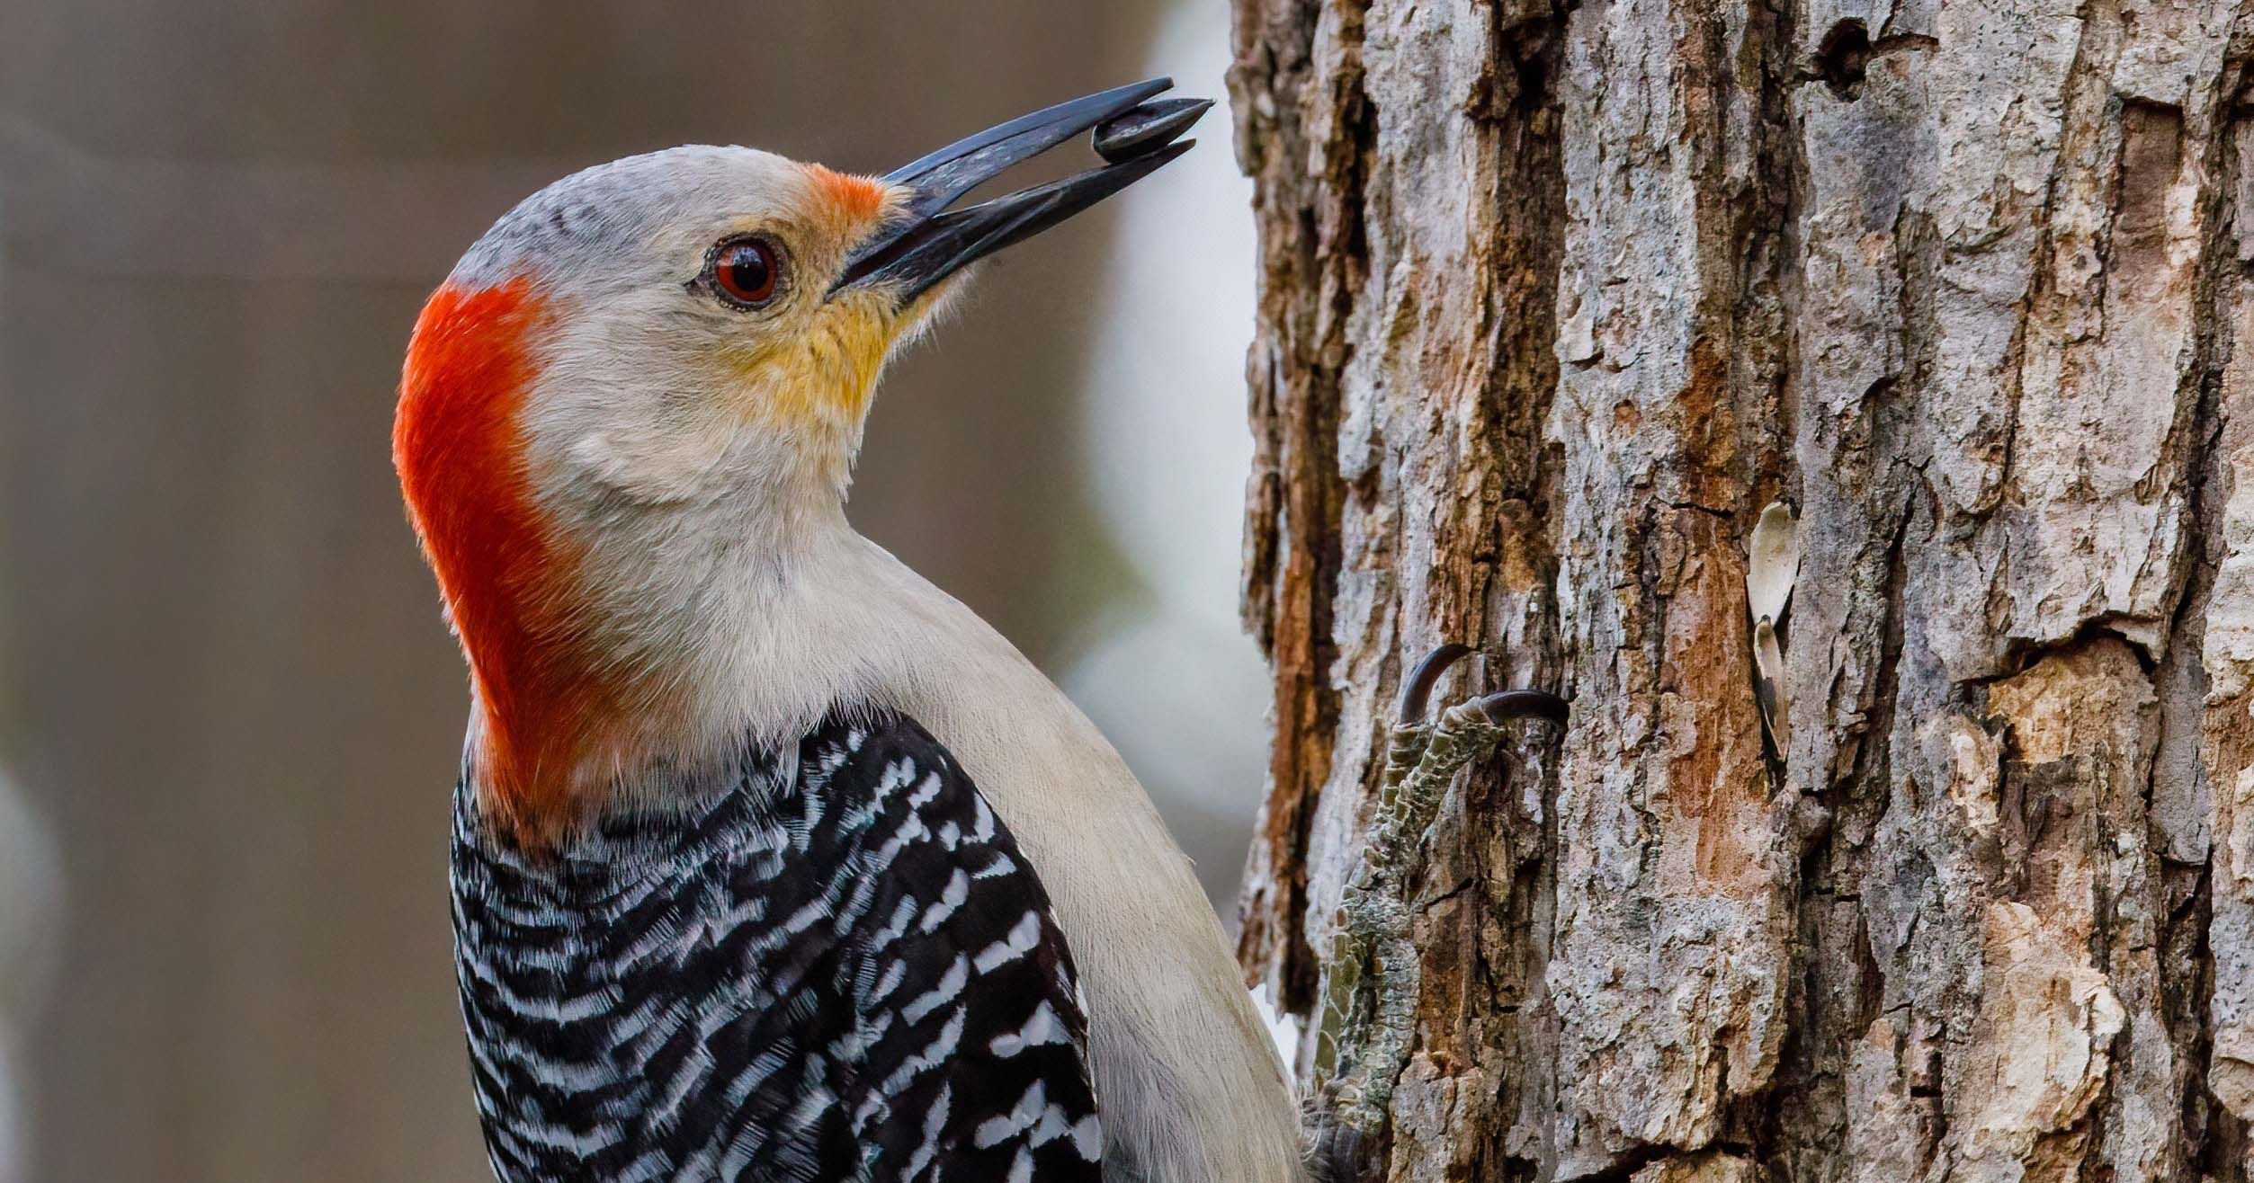
[[[485,225],[681,142],[884,171],[1136,77],[1219,97],[1226,45],[1224,0],[0,0],[0,1183],[487,1178],[467,690],[388,457]],[[1226,113],[1199,135],[985,268],[852,516],[1073,692],[1226,899],[1253,246]]]

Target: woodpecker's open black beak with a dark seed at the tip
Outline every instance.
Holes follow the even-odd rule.
[[[1174,79],[1152,79],[1057,104],[893,169],[884,178],[911,187],[915,196],[893,225],[854,250],[829,291],[884,284],[906,306],[965,266],[1150,176],[1195,144],[1174,137],[1213,106],[1210,99],[1152,101],[1172,86]],[[1107,160],[1104,167],[967,210],[947,210],[1003,169],[1089,128],[1095,128],[1095,151]]]

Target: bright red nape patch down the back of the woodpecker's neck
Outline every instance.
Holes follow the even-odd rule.
[[[525,473],[521,410],[543,302],[532,282],[437,288],[408,343],[392,464],[469,658],[480,798],[518,838],[573,822],[573,775],[606,712],[564,642],[570,559],[545,534]]]

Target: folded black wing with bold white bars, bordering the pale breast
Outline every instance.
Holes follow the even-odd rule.
[[[877,1178],[1098,1181],[1086,1016],[1048,892],[953,757],[915,721],[825,728],[802,800],[861,834],[868,886],[838,1059]],[[861,904],[861,901],[854,901]]]

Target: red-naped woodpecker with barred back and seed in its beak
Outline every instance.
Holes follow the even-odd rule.
[[[1145,791],[845,518],[962,268],[1181,155],[1156,79],[886,176],[683,146],[505,214],[415,324],[408,518],[471,674],[453,924],[503,1181],[1301,1178]],[[980,205],[1095,131],[1102,164]]]

